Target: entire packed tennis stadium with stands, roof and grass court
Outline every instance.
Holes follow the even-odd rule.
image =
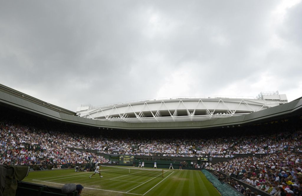
[[[0,85],[0,108],[0,195],[302,193],[302,97],[173,97],[72,112]]]

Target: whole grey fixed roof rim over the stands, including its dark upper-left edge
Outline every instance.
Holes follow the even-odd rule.
[[[75,112],[49,104],[32,96],[21,93],[0,84],[0,106],[10,107],[16,112],[22,111],[51,120],[71,124],[94,126],[112,129],[204,129],[227,126],[244,126],[288,119],[302,116],[302,97],[279,106],[264,109],[258,112],[232,116],[228,118],[212,119],[207,121],[182,121],[182,122],[152,122],[152,123],[127,123],[113,121],[98,121],[76,116]]]

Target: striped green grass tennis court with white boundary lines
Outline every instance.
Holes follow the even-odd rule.
[[[93,195],[220,195],[200,171],[101,166],[98,174],[71,169],[30,172],[24,181],[48,186],[81,184]]]

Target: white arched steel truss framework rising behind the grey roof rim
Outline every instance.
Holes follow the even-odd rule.
[[[77,115],[102,121],[202,121],[257,112],[284,102],[255,99],[177,99],[119,104],[78,111]]]

